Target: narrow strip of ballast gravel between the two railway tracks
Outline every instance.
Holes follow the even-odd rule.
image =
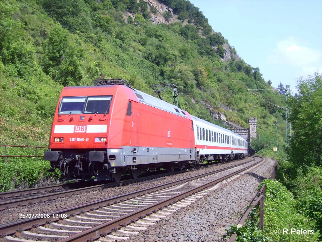
[[[73,206],[96,201],[99,199],[109,198],[109,197],[117,196],[120,194],[128,193],[131,191],[137,191],[140,189],[145,189],[145,188],[160,185],[163,183],[167,183],[167,182],[183,179],[186,177],[202,174],[207,171],[229,167],[229,166],[232,166],[235,164],[249,161],[251,159],[252,159],[251,157],[246,157],[241,160],[236,160],[236,161],[232,161],[229,163],[223,163],[223,164],[219,164],[219,165],[204,168],[204,169],[198,169],[198,170],[193,170],[193,171],[189,171],[189,172],[184,172],[184,173],[176,174],[173,176],[166,176],[166,177],[162,177],[162,178],[151,179],[151,180],[147,180],[147,181],[143,181],[143,182],[139,182],[139,183],[132,183],[132,184],[122,185],[122,186],[118,186],[118,187],[114,187],[114,188],[100,189],[100,190],[96,190],[96,191],[87,192],[86,194],[78,194],[78,195],[75,195],[72,197],[64,197],[64,198],[60,198],[60,199],[55,199],[53,201],[45,201],[43,203],[36,203],[34,205],[26,205],[26,206],[22,206],[22,207],[15,207],[15,208],[2,210],[2,211],[0,211],[0,224],[10,223],[13,221],[18,221],[20,219],[23,219],[20,216],[22,214],[33,214],[33,213],[34,214],[37,214],[37,213],[47,214],[47,213],[58,211],[58,210],[61,210],[64,208],[70,208]]]

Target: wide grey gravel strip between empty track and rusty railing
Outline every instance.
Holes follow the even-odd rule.
[[[275,164],[275,160],[266,158],[261,165],[130,237],[127,242],[223,241],[225,230],[239,222],[259,183],[270,175]]]

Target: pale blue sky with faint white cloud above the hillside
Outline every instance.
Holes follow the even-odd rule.
[[[190,0],[272,86],[322,72],[322,0]]]

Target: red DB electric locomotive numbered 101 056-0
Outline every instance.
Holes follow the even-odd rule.
[[[129,87],[122,79],[65,87],[55,111],[49,151],[64,179],[113,179],[129,172],[195,165],[188,112]]]

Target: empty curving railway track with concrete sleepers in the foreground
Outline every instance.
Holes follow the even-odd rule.
[[[257,157],[242,165],[55,211],[48,214],[49,218],[46,215],[46,218],[28,218],[1,225],[0,242],[94,241],[99,237],[102,241],[126,239],[196,200],[199,197],[196,192],[204,189],[207,192],[213,184],[262,160]]]

